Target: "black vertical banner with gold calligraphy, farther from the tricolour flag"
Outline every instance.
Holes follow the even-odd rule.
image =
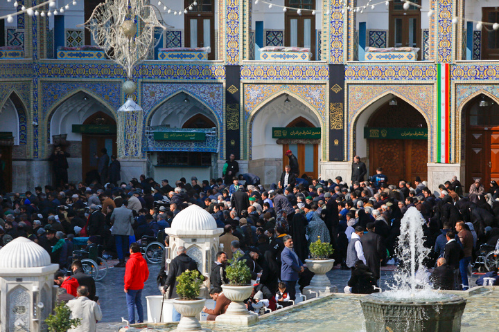
[[[225,66],[225,158],[240,158],[240,66]]]

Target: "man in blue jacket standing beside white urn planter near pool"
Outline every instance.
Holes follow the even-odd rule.
[[[296,283],[299,273],[304,272],[304,264],[293,250],[293,242],[289,235],[283,237],[284,249],[281,252],[281,281],[286,283],[286,290],[292,301],[296,299]]]

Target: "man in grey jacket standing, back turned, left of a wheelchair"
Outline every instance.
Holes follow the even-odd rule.
[[[125,255],[128,252],[128,239],[134,234],[132,225],[135,221],[132,210],[127,208],[128,201],[123,201],[120,208],[113,210],[111,222],[113,223],[111,234],[116,241],[116,251],[118,252],[119,263],[115,268],[125,267]]]

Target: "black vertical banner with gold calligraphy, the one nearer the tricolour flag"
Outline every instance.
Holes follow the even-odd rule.
[[[329,161],[344,160],[344,66],[329,65]]]

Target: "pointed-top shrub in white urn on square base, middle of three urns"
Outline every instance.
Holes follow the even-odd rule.
[[[240,252],[236,252],[225,270],[229,284],[223,284],[222,290],[225,297],[231,300],[231,304],[225,314],[216,317],[217,322],[247,325],[258,320],[258,317],[248,312],[244,304],[245,299],[252,294],[253,285],[249,284],[251,271],[244,261],[238,261],[241,256]]]

